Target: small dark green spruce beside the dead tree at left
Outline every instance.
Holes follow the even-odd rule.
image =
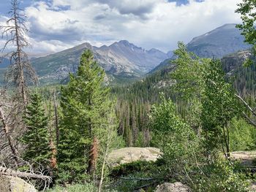
[[[31,94],[31,100],[23,115],[26,132],[21,142],[26,145],[23,159],[33,163],[48,165],[50,144],[48,134],[48,118],[42,107],[42,98],[38,93]]]

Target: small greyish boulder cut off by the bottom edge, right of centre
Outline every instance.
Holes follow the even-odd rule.
[[[180,182],[176,183],[163,183],[158,185],[156,192],[189,192],[190,189],[187,185],[184,185]]]

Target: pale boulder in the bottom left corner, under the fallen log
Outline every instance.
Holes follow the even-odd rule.
[[[33,185],[19,177],[0,176],[1,192],[37,192]]]

